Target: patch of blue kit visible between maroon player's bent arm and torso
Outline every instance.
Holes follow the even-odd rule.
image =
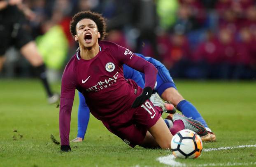
[[[133,68],[130,68],[126,64],[123,65],[123,76],[126,79],[133,79],[141,88],[145,87],[145,83],[140,72]]]

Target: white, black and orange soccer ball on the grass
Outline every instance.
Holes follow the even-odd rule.
[[[172,137],[171,148],[176,158],[197,158],[202,152],[202,140],[194,131],[183,129]]]

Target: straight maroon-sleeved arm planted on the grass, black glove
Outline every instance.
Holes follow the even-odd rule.
[[[61,151],[71,151],[69,144],[70,117],[74,101],[75,79],[72,74],[63,73],[61,81],[61,104],[59,115],[59,128],[61,138]]]

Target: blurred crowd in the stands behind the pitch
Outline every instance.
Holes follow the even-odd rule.
[[[78,47],[69,32],[72,16],[78,11],[91,10],[107,18],[107,40],[162,61],[172,77],[255,79],[256,76],[256,0],[23,0],[23,3],[33,11],[28,18],[28,29],[37,39],[49,69],[62,71]]]

